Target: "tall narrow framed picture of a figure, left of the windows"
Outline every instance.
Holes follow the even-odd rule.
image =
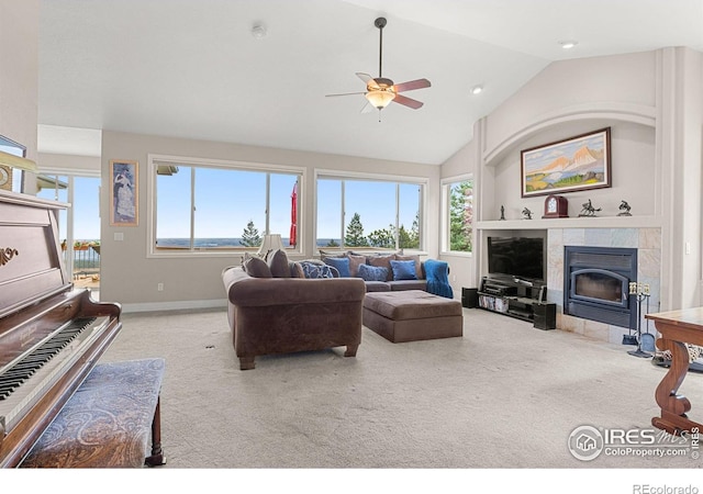
[[[136,226],[138,214],[138,162],[110,161],[110,225]]]

